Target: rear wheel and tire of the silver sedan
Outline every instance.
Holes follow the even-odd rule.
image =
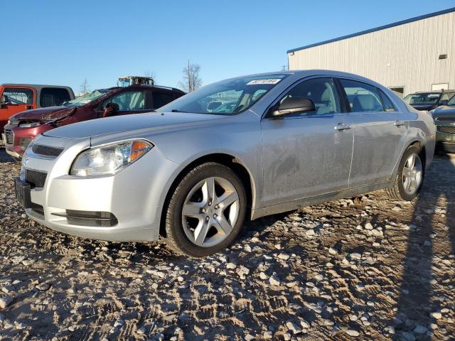
[[[406,180],[407,178],[412,178],[412,176],[407,176],[408,170],[410,169],[410,163],[408,162],[410,158],[414,156],[414,168],[416,168],[416,177],[417,172],[420,173],[419,180],[416,179],[416,183],[413,185],[407,185]],[[420,190],[422,189],[422,184],[424,182],[424,175],[425,175],[425,167],[424,161],[422,158],[422,150],[417,148],[416,146],[410,146],[406,149],[403,157],[400,161],[400,166],[397,172],[397,178],[395,178],[395,183],[392,188],[387,188],[385,191],[387,195],[392,200],[400,200],[400,201],[412,201],[414,200],[417,195],[419,195]]]

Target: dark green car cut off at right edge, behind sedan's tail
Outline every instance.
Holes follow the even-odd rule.
[[[436,124],[437,148],[455,153],[455,96],[446,105],[441,105],[429,112]]]

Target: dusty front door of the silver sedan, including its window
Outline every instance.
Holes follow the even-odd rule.
[[[353,132],[333,80],[306,79],[279,102],[287,97],[309,98],[316,111],[262,119],[265,207],[348,188]]]

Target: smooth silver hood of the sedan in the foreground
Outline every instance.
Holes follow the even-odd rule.
[[[130,114],[82,121],[46,131],[44,135],[68,139],[82,139],[122,131],[138,131],[143,129],[162,131],[170,127],[175,128],[179,125],[188,126],[188,124],[213,121],[225,117],[224,115],[191,114],[186,112],[150,112],[146,114]]]

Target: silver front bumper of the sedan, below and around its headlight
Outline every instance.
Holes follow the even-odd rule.
[[[142,242],[159,238],[161,210],[178,165],[152,148],[140,160],[116,175],[82,178],[69,175],[80,151],[90,147],[87,139],[38,136],[35,144],[64,148],[57,158],[39,156],[30,149],[23,168],[47,173],[43,188],[31,190],[31,202],[38,209],[26,209],[31,219],[58,232],[77,237],[115,242]],[[92,226],[75,222],[68,212],[108,212],[114,226]]]

